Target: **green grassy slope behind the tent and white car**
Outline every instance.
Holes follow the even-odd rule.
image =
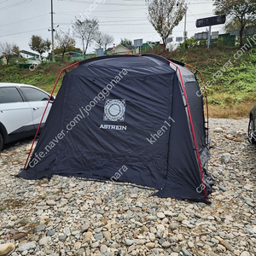
[[[150,52],[150,47],[148,49]],[[200,45],[172,52],[165,52],[159,48],[153,50],[153,53],[188,63],[201,71],[206,84],[211,82],[210,86],[207,86],[210,116],[241,118],[248,116],[256,96],[256,49],[247,50],[239,59],[235,58],[237,50],[236,47],[224,45],[217,45],[215,48],[212,46],[210,49]],[[226,66],[227,63],[231,65]],[[70,64],[72,63],[44,62],[34,71],[20,68],[17,64],[0,66],[0,81],[32,84],[51,92],[61,70]],[[73,68],[75,67],[68,72]],[[64,74],[61,79],[63,76]],[[54,95],[61,86],[61,79]]]

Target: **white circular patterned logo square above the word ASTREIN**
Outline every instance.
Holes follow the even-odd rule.
[[[107,100],[104,112],[105,121],[124,121],[125,100]]]

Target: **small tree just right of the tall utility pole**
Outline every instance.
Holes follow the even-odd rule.
[[[74,48],[76,41],[71,38],[70,30],[67,32],[59,31],[55,34],[55,44],[56,48],[61,51],[62,54],[62,61],[64,60],[64,54],[67,49]]]

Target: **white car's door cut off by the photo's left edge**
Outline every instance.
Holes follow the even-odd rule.
[[[0,122],[9,136],[34,129],[31,107],[15,86],[0,87]]]

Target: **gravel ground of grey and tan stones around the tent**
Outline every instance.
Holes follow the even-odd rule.
[[[31,141],[0,164],[0,255],[256,255],[256,149],[248,119],[210,119],[212,205],[161,199],[129,184],[13,177]]]

